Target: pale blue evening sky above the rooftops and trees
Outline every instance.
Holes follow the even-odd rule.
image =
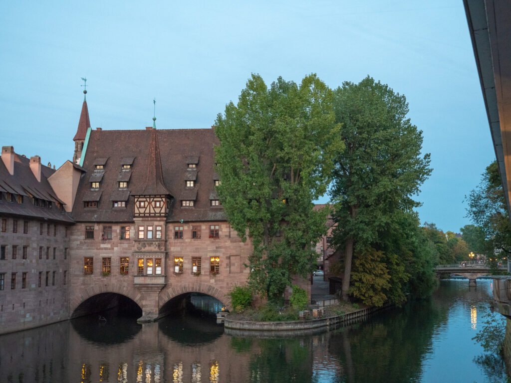
[[[495,159],[461,0],[0,2],[0,145],[72,159],[87,78],[92,129],[209,128],[252,73],[267,85],[367,75],[404,94],[431,153],[421,223],[470,224]],[[329,199],[324,196],[319,202]]]

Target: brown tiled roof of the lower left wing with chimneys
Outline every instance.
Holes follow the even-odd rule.
[[[65,212],[59,211],[55,205],[55,201],[62,203],[48,182],[48,177],[55,171],[48,166],[41,165],[41,182],[38,182],[30,169],[30,160],[17,154],[14,158],[13,175],[9,174],[4,161],[0,160],[0,192],[19,194],[24,196],[24,200],[22,204],[16,201],[7,202],[4,195],[0,200],[0,214],[73,223],[73,220]],[[35,206],[31,196],[52,201],[53,207],[50,209]]]

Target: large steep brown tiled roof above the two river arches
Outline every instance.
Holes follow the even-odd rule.
[[[218,145],[218,139],[213,129],[92,130],[83,167],[92,173],[95,159],[108,157],[99,188],[103,194],[98,208],[84,208],[84,196],[90,192],[90,184],[82,177],[73,218],[81,222],[133,222],[133,196],[167,194],[171,201],[169,222],[225,221],[221,207],[210,207],[210,192],[215,188],[214,145]],[[134,158],[131,177],[127,189],[120,190],[118,177],[127,157]],[[191,173],[187,167],[190,157],[197,160],[200,157],[200,161],[192,171],[197,175],[195,187],[185,188],[185,174]],[[129,193],[126,208],[112,207],[111,201],[122,201],[114,199],[117,192]],[[181,207],[181,197],[190,196],[195,199],[195,206]]]

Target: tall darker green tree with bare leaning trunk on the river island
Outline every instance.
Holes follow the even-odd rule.
[[[337,88],[334,110],[346,148],[334,158],[331,189],[334,243],[344,248],[346,300],[354,248],[363,254],[396,212],[419,206],[412,196],[432,170],[429,154],[421,156],[422,132],[406,117],[404,95],[368,76]]]

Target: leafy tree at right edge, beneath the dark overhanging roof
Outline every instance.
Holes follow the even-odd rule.
[[[466,201],[468,218],[484,232],[484,242],[479,245],[487,255],[494,252],[511,255],[511,224],[497,161],[486,167],[481,182]]]

